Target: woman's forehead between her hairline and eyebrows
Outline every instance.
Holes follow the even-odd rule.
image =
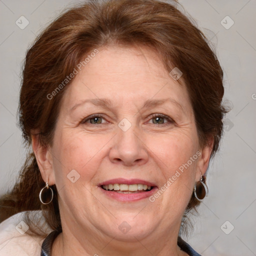
[[[185,86],[172,79],[153,50],[108,46],[98,51],[68,85],[65,105],[87,98],[124,103],[171,97],[188,107]]]

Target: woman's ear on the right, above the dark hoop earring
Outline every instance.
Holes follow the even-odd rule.
[[[207,140],[206,145],[200,150],[201,155],[198,158],[197,161],[197,172],[196,172],[196,180],[200,180],[200,172],[202,175],[205,174],[208,165],[209,165],[209,160],[210,160],[210,154],[213,148],[213,143],[214,143],[214,137],[210,136]]]

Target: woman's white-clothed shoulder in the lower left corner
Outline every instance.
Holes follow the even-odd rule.
[[[12,256],[17,253],[20,256],[40,255],[43,237],[28,234],[29,226],[25,222],[25,213],[19,212],[0,223],[0,256]],[[36,224],[40,224],[45,232],[51,231],[40,210],[29,211],[29,216]]]

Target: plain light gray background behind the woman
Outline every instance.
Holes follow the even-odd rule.
[[[16,125],[25,51],[46,24],[75,2],[0,0],[0,194],[14,184],[25,155]],[[224,97],[232,103],[220,151],[208,169],[209,195],[200,216],[192,217],[194,230],[186,240],[202,255],[256,255],[256,1],[179,2],[216,47]],[[24,29],[15,24],[21,15],[29,21]],[[230,28],[227,15],[234,22]]]

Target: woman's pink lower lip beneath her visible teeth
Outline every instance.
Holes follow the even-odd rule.
[[[154,194],[157,190],[157,187],[153,187],[150,191],[144,191],[144,192],[137,192],[137,193],[130,193],[130,194],[123,194],[123,193],[117,193],[112,190],[105,190],[101,188],[101,191],[108,197],[115,199],[117,201],[137,201],[140,199],[147,198]]]

